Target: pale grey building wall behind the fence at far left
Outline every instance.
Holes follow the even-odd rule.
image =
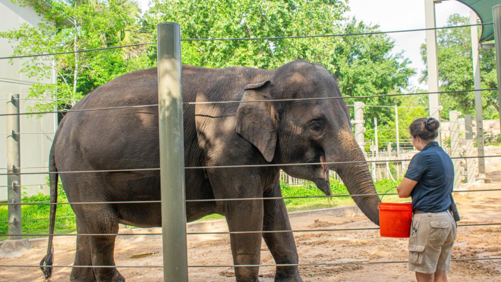
[[[40,17],[33,11],[31,7],[19,7],[17,4],[12,4],[9,0],[0,0],[0,18],[2,25],[0,31],[15,29],[22,24],[36,25],[41,22]],[[0,57],[11,56],[13,54],[12,43],[5,39],[0,39]],[[29,78],[20,72],[22,63],[26,59],[14,59],[11,64],[9,60],[0,60],[0,114],[6,112],[6,103],[9,93],[18,93],[21,98],[26,98],[29,93],[29,88],[37,81],[34,78]],[[54,77],[47,78],[42,82],[51,83]],[[21,100],[21,112],[27,112],[28,106],[34,101]],[[46,114],[41,118],[36,116],[21,116],[21,132],[25,133],[40,133],[45,134],[21,134],[21,167],[46,167],[40,169],[22,169],[22,172],[39,172],[48,171],[49,150],[52,145],[53,133],[56,126],[56,114]],[[6,116],[0,116],[0,173],[6,173],[7,170],[7,143],[6,139],[8,129],[6,128]],[[40,191],[39,186],[31,186],[43,184],[42,190],[48,193],[49,189],[46,185],[47,176],[44,175],[23,175],[21,177],[21,185],[28,188],[29,194],[36,194]],[[7,199],[7,177],[0,176],[0,200]]]

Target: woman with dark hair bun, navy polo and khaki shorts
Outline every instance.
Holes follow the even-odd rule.
[[[450,213],[454,168],[435,138],[440,123],[418,118],[409,126],[412,145],[420,151],[398,185],[400,198],[412,197],[409,270],[418,282],[447,281],[456,223]]]

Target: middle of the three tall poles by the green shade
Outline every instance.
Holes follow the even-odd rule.
[[[470,11],[470,24],[476,25],[477,16],[473,10]],[[473,62],[473,89],[481,89],[480,86],[480,58],[478,56],[478,27],[472,26],[471,30],[471,59]],[[475,122],[476,122],[476,150],[478,164],[478,176],[485,177],[485,159],[483,150],[483,113],[482,113],[482,92],[475,91]],[[468,173],[469,174],[469,173]],[[469,181],[469,180],[468,180]]]

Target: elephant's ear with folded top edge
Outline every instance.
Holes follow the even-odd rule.
[[[278,113],[270,100],[269,80],[245,86],[236,110],[235,130],[256,146],[266,161],[271,162],[277,147]],[[260,101],[260,102],[256,102]]]

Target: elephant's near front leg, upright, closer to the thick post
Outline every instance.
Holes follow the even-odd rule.
[[[229,231],[262,231],[263,201],[228,201],[225,203]],[[261,232],[230,234],[233,264],[260,264]],[[237,282],[257,282],[259,266],[235,266]]]

